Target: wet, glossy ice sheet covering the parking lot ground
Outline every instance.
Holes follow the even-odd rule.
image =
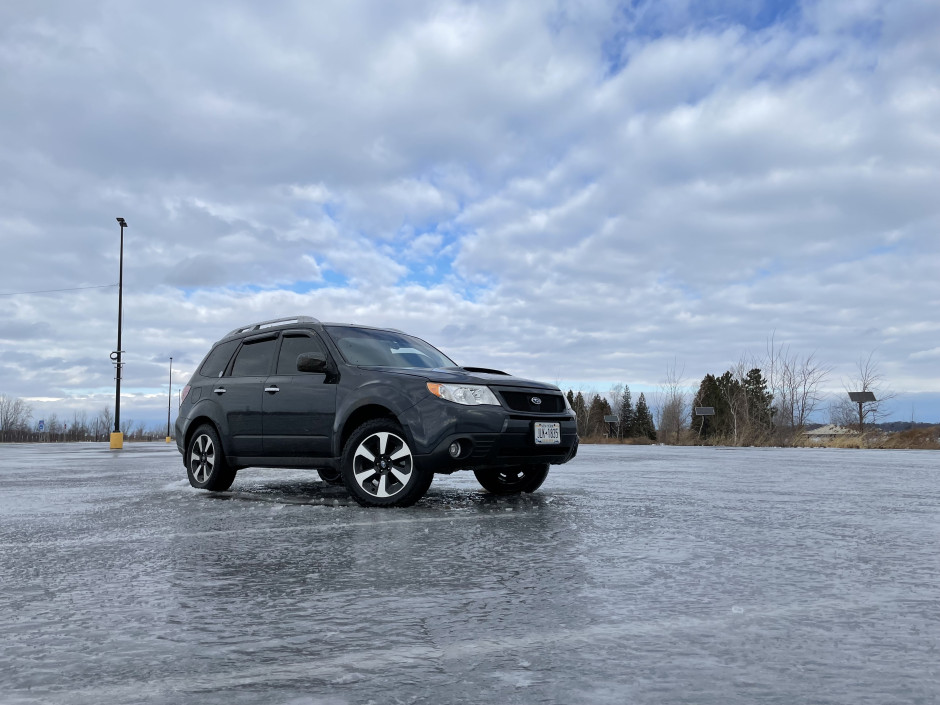
[[[0,446],[2,703],[936,703],[940,454],[584,446],[533,495]]]

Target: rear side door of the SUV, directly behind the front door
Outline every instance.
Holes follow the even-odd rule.
[[[235,353],[228,376],[221,377],[212,390],[225,415],[232,455],[262,454],[262,395],[276,348],[276,335],[246,338]]]

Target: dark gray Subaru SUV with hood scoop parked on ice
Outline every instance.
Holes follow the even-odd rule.
[[[183,389],[176,443],[194,487],[250,466],[315,468],[364,506],[408,506],[434,473],[532,492],[578,450],[558,387],[459,367],[397,330],[296,316],[237,328]]]

